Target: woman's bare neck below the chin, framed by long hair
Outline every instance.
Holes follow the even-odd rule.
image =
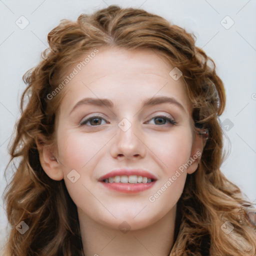
[[[120,231],[93,221],[77,208],[85,256],[167,256],[175,227],[176,206],[143,229]]]

